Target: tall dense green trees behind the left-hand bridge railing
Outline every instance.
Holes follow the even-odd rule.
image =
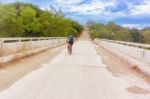
[[[41,10],[29,3],[0,4],[0,37],[78,36],[83,27],[61,10]]]

